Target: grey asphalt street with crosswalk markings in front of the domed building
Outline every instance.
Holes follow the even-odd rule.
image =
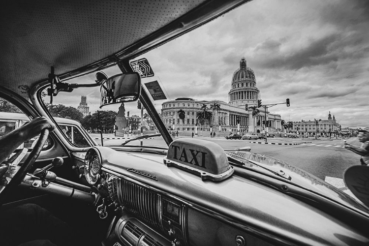
[[[93,138],[99,138],[98,134],[91,134]],[[117,138],[104,134],[104,145],[121,144],[127,139]],[[113,139],[115,138],[115,139]],[[127,137],[125,137],[127,138]],[[128,138],[132,138],[129,136]],[[264,139],[259,140],[227,140],[225,138],[199,137],[220,145],[223,149],[237,149],[251,147],[251,152],[266,154],[282,160],[288,164],[299,167],[312,175],[325,180],[337,187],[343,187],[344,171],[359,164],[359,155],[343,148],[342,139],[275,139],[270,138],[265,144]],[[95,139],[97,143],[100,140]],[[274,144],[272,144],[274,143]],[[356,138],[347,139],[347,143],[358,145]],[[132,141],[127,145],[139,145],[138,141]],[[144,145],[166,147],[161,137],[144,139]]]

